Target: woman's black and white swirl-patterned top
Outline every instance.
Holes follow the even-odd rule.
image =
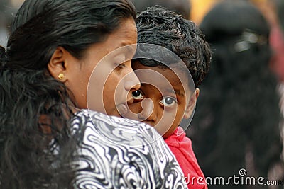
[[[75,188],[187,188],[178,162],[153,127],[80,110],[72,130],[83,131]]]

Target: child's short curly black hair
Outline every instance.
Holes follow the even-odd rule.
[[[174,52],[190,71],[195,86],[203,81],[209,71],[212,52],[204,34],[195,23],[162,6],[152,6],[138,14],[136,26],[138,43],[160,45]],[[155,51],[157,50],[153,49],[151,53],[154,55],[162,53]],[[166,67],[165,63],[153,59],[138,59],[138,61],[148,67]],[[170,64],[176,63],[170,62]]]

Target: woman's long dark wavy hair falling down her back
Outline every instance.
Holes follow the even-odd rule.
[[[136,18],[128,0],[23,3],[0,48],[0,188],[72,188],[72,94],[47,65],[59,46],[82,58],[125,18]]]

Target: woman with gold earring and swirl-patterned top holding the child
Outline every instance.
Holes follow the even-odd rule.
[[[0,51],[0,188],[184,188],[150,126],[102,114],[119,115],[139,87],[134,18],[127,0],[23,3]],[[80,110],[95,67],[107,75],[89,86],[102,113]]]

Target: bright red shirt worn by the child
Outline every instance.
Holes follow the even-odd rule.
[[[178,127],[170,137],[165,139],[170,150],[178,160],[185,175],[185,182],[190,189],[207,189],[204,174],[197,163],[192,150],[192,142],[185,136],[182,127]]]

